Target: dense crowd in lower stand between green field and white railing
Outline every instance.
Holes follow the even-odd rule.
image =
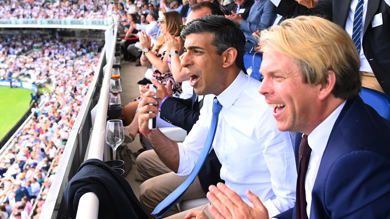
[[[2,37],[34,42],[37,35]],[[55,178],[62,152],[83,98],[92,81],[103,42],[84,39],[47,39],[42,48],[25,56],[5,56],[1,68],[12,77],[35,74],[36,82],[50,81],[53,92],[44,92],[42,108],[32,108],[33,119],[25,125],[0,161],[2,218],[39,218]],[[15,46],[17,49],[17,47]],[[33,202],[35,201],[35,202]],[[32,212],[32,205],[36,207]],[[0,213],[1,214],[1,213]]]

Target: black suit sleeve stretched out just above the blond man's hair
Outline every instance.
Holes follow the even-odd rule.
[[[273,12],[289,18],[298,15],[320,15],[332,20],[332,0],[323,0],[311,9],[296,0],[281,0]]]

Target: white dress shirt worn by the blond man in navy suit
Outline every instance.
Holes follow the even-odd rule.
[[[346,101],[342,102],[339,107],[333,111],[328,118],[319,124],[308,136],[307,142],[312,153],[310,155],[309,166],[305,178],[305,192],[307,201],[307,215],[310,217],[310,208],[312,206],[312,191],[314,182],[316,182],[319,164],[321,163],[322,155],[326,144],[328,143],[330,132],[332,132],[333,125],[337,117],[339,117],[342,108]]]

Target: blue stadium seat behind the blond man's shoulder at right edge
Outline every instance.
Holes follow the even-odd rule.
[[[363,101],[374,108],[379,115],[390,121],[390,96],[382,92],[363,87],[360,92]]]

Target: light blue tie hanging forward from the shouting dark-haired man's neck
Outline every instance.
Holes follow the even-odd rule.
[[[202,168],[204,161],[206,160],[207,155],[209,155],[211,145],[214,140],[215,130],[218,124],[218,115],[222,109],[222,105],[218,102],[218,99],[214,97],[213,100],[213,115],[211,117],[211,124],[209,128],[209,132],[207,133],[206,141],[204,142],[204,147],[200,152],[197,162],[190,175],[188,175],[187,179],[175,189],[171,194],[167,196],[160,204],[154,208],[152,214],[158,214],[156,219],[163,217],[176,203],[183,197],[184,193],[190,187],[190,185],[194,182],[196,176],[199,173],[200,168]]]

